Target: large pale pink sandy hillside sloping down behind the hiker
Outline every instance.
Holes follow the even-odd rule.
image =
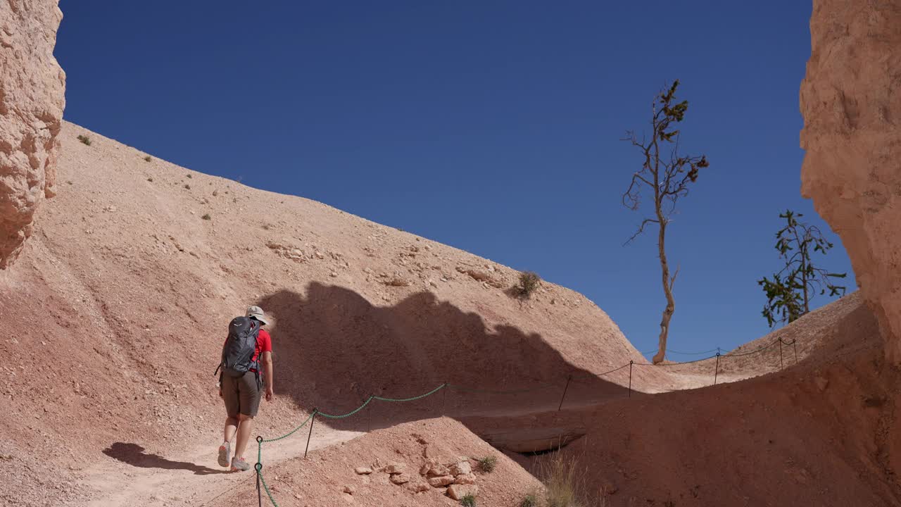
[[[544,283],[532,300],[516,300],[508,290],[518,273],[470,253],[145,161],[74,124],[59,138],[59,196],[41,209],[19,261],[0,272],[0,314],[16,330],[0,340],[0,370],[14,379],[0,387],[10,416],[0,475],[21,470],[0,493],[41,482],[16,502],[113,488],[90,480],[98,466],[123,466],[110,449],[193,456],[214,443],[223,409],[213,371],[227,322],[249,304],[275,318],[278,399],[263,408],[263,434],[369,394],[404,397],[444,382],[514,389],[642,360],[571,290]],[[635,383],[659,375],[636,372]],[[582,385],[603,397],[627,380]],[[505,410],[459,394],[448,396],[449,410]],[[375,424],[434,415],[421,404],[377,413]]]

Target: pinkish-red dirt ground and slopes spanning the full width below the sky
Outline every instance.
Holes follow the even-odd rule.
[[[223,409],[212,373],[223,327],[249,304],[276,320],[277,400],[255,431],[267,438],[314,407],[341,413],[370,394],[457,386],[317,419],[306,460],[303,430],[267,445],[266,476],[283,506],[448,504],[376,480],[341,490],[359,479],[354,466],[414,460],[423,450],[414,435],[474,457],[493,452],[476,435],[534,428],[585,433],[560,452],[592,488],[615,492],[608,505],[901,504],[897,373],[856,294],[736,351],[797,339],[797,365],[794,347],[783,370],[776,347],[721,357],[712,387],[715,360],[635,366],[630,398],[628,369],[587,373],[641,355],[575,292],[544,283],[517,300],[508,294],[517,272],[472,254],[147,162],[77,125],[61,137],[59,196],[0,273],[0,315],[16,330],[0,339],[5,504],[255,498],[252,474],[214,464]],[[557,411],[569,375],[587,378]],[[465,428],[432,419],[442,414]],[[478,476],[480,506],[514,505],[536,487],[532,458],[505,456]]]

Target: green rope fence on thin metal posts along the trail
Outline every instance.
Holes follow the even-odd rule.
[[[760,353],[762,353],[766,350],[769,350],[770,348],[778,345],[779,346],[779,368],[781,369],[781,368],[785,367],[784,357],[783,357],[783,346],[792,346],[792,349],[795,353],[795,364],[797,364],[796,342],[797,342],[796,339],[793,339],[789,342],[789,341],[783,340],[781,337],[779,337],[779,338],[773,340],[771,343],[769,343],[769,345],[761,346],[751,352],[722,354],[720,351],[720,348],[717,347],[714,350],[709,350],[704,353],[677,353],[677,354],[686,354],[686,355],[696,355],[696,354],[709,354],[714,351],[716,352],[715,355],[710,355],[708,357],[696,359],[694,361],[686,361],[686,362],[682,362],[682,363],[667,363],[667,364],[635,363],[634,361],[629,361],[629,363],[627,363],[627,364],[623,364],[622,366],[618,366],[618,367],[616,367],[612,370],[606,371],[604,373],[581,373],[578,375],[569,374],[566,378],[566,385],[563,387],[563,392],[560,395],[560,403],[557,406],[557,410],[560,411],[563,409],[563,402],[566,401],[566,395],[567,395],[567,392],[569,391],[569,385],[573,381],[578,382],[580,380],[584,380],[587,378],[601,378],[601,377],[604,377],[605,375],[609,375],[611,373],[616,373],[625,368],[629,368],[628,396],[631,398],[632,397],[632,377],[633,377],[633,367],[634,366],[679,366],[679,365],[684,365],[684,364],[701,363],[703,361],[708,361],[710,359],[715,358],[716,363],[714,366],[714,383],[713,383],[713,385],[716,385],[716,382],[717,382],[717,379],[719,376],[720,362],[724,358],[726,358],[726,357],[743,357],[743,356],[747,356],[747,355],[760,354]],[[668,352],[673,352],[673,351],[668,350]],[[340,414],[340,415],[328,414],[328,413],[325,413],[325,412],[319,410],[318,408],[314,408],[313,412],[310,414],[310,416],[307,417],[306,420],[300,424],[300,426],[288,431],[286,434],[282,435],[281,437],[276,437],[276,438],[262,438],[261,436],[257,437],[257,463],[253,466],[253,469],[256,471],[256,475],[257,475],[257,500],[259,503],[259,507],[262,507],[262,504],[263,504],[262,503],[263,502],[263,493],[266,493],[266,496],[268,497],[269,502],[272,502],[272,505],[274,507],[278,507],[278,502],[276,502],[275,497],[273,497],[272,492],[270,491],[269,486],[268,486],[268,484],[266,484],[266,480],[263,477],[263,444],[268,443],[268,442],[277,442],[278,440],[288,438],[291,435],[294,435],[300,429],[304,428],[307,424],[309,424],[310,429],[309,429],[309,432],[306,437],[306,447],[304,450],[304,457],[306,457],[307,453],[310,449],[310,440],[311,440],[311,438],[313,438],[313,425],[315,424],[317,416],[323,417],[325,419],[345,419],[345,418],[349,418],[353,415],[358,414],[360,410],[365,409],[372,401],[378,400],[378,401],[386,401],[389,403],[404,403],[404,402],[409,402],[409,401],[419,401],[419,400],[423,400],[424,398],[428,398],[429,396],[432,396],[432,394],[435,394],[436,392],[443,392],[443,401],[441,403],[441,413],[443,414],[443,413],[445,413],[446,408],[447,408],[447,392],[451,391],[451,390],[460,391],[460,392],[480,392],[480,393],[488,393],[488,394],[521,394],[521,393],[526,393],[526,392],[543,391],[543,390],[549,389],[551,387],[559,388],[560,384],[544,383],[544,384],[540,384],[536,387],[532,387],[529,389],[514,389],[514,390],[507,390],[507,391],[497,391],[497,390],[490,390],[490,389],[479,389],[479,388],[467,387],[467,386],[444,382],[444,383],[441,383],[441,385],[439,385],[438,387],[435,387],[434,389],[432,389],[432,391],[424,392],[423,394],[420,394],[418,396],[411,396],[409,398],[387,398],[384,396],[377,396],[375,394],[371,394],[371,395],[369,395],[369,397],[366,400],[363,401],[363,403],[361,405],[359,405],[359,407],[357,407],[354,410],[350,410],[347,413]],[[371,410],[369,410],[369,414],[371,414]],[[368,422],[368,428],[371,428],[371,423],[369,423],[369,422]]]

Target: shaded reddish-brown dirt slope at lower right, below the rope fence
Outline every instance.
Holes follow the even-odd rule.
[[[859,295],[778,336],[804,341],[809,354],[781,371],[772,355],[758,355],[761,375],[742,382],[462,420],[487,437],[578,429],[584,437],[561,452],[578,461],[589,489],[613,492],[605,496],[613,506],[901,505],[901,378],[885,363],[876,319]]]

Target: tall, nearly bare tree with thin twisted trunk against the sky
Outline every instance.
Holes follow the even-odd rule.
[[[651,103],[651,138],[641,139],[633,131],[627,131],[623,141],[632,143],[642,152],[642,170],[635,172],[629,189],[623,193],[623,206],[637,211],[641,207],[642,196],[653,196],[654,211],[646,216],[638,226],[635,234],[626,244],[641,235],[645,227],[657,226],[657,249],[660,256],[660,274],[663,281],[663,293],[667,298],[663,318],[660,319],[660,339],[657,354],[652,362],[659,364],[667,351],[669,320],[676,311],[676,300],[673,298],[673,285],[678,276],[678,267],[671,276],[666,252],[667,226],[676,212],[679,198],[688,194],[688,186],[697,180],[701,169],[708,167],[705,155],[691,156],[679,154],[679,131],[671,127],[681,122],[688,109],[688,101],[676,100],[678,79],[672,86],[664,88]]]

